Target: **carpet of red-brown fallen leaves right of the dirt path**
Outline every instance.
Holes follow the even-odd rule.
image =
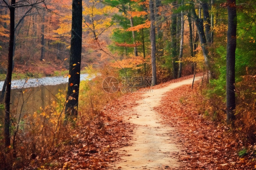
[[[179,143],[184,146],[179,155],[183,169],[254,170],[255,160],[238,155],[239,139],[224,124],[216,125],[198,114],[202,103],[193,101],[199,96],[195,89],[191,90],[191,85],[176,88],[166,93],[160,107],[154,108],[164,123],[177,131]]]

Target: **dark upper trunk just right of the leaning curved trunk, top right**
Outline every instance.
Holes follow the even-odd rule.
[[[206,41],[208,44],[211,43],[210,39],[210,15],[209,15],[209,7],[208,3],[203,2],[203,14],[204,14],[204,21],[205,21],[205,35],[206,35]]]

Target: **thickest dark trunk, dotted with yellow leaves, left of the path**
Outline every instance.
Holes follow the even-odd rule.
[[[65,118],[76,118],[82,52],[82,0],[72,0],[72,31]]]

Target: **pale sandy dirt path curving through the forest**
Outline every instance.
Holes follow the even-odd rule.
[[[129,114],[127,120],[135,124],[131,145],[123,147],[118,152],[121,157],[115,162],[113,169],[179,169],[177,153],[180,151],[175,135],[175,130],[162,121],[154,107],[160,105],[160,101],[167,91],[173,90],[181,85],[189,85],[193,79],[172,83],[160,89],[144,93],[138,105],[132,110],[126,110]],[[196,77],[195,80],[200,80]]]

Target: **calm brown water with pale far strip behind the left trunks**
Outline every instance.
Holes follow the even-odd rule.
[[[80,76],[81,80],[90,80],[87,74]],[[40,79],[13,80],[11,85],[12,116],[22,114],[33,114],[40,107],[44,108],[61,93],[66,96],[68,77],[43,77]],[[2,89],[4,81],[0,81]],[[2,110],[3,111],[3,110]]]

